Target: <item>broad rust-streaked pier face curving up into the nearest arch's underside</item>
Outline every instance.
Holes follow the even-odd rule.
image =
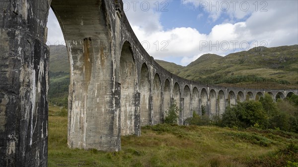
[[[35,5],[45,3],[38,1]],[[119,151],[121,114],[115,115],[115,113],[121,109],[121,85],[118,85],[120,82],[118,67],[115,67],[116,70],[111,67],[114,62],[111,56],[113,47],[110,34],[111,20],[106,10],[110,4],[106,1],[98,3],[98,0],[88,0],[84,2],[87,11],[81,4],[79,0],[51,1],[51,7],[64,35],[70,62],[68,146]],[[44,8],[39,10],[43,11]],[[46,20],[38,22],[43,24]],[[34,27],[34,29],[42,31],[42,28]],[[118,46],[122,47],[122,44]],[[119,49],[117,65],[120,65],[118,64],[120,52]],[[113,72],[116,78],[111,75]],[[114,98],[116,105],[114,108],[108,107],[113,96],[116,97]],[[99,122],[109,126],[94,128]],[[102,143],[115,144],[105,147]]]

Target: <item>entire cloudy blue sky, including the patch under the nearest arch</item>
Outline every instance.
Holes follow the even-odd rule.
[[[123,0],[123,10],[154,59],[188,65],[204,54],[298,44],[298,0]],[[65,45],[50,10],[48,45]]]

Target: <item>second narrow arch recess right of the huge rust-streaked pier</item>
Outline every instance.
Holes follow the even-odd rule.
[[[151,122],[151,110],[150,110],[150,81],[149,71],[146,63],[142,64],[140,71],[140,118],[141,126],[149,125]]]

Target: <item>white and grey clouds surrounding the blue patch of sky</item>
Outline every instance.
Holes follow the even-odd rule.
[[[238,8],[236,6],[235,11],[232,9],[209,11],[202,8],[204,12],[199,12],[197,19],[202,16],[209,17],[210,21],[225,18],[225,21],[215,25],[209,34],[202,34],[191,27],[164,30],[160,22],[162,1],[158,1],[158,7],[155,0],[147,0],[144,3],[139,1],[136,5],[131,1],[124,1],[130,3],[129,8],[127,6],[124,8],[135,34],[144,44],[144,48],[148,48],[149,55],[155,59],[167,61],[180,59],[180,62],[176,63],[187,65],[206,53],[224,56],[240,49],[247,50],[260,45],[275,47],[298,44],[298,1],[264,1],[268,3],[263,8],[267,11],[260,11],[264,7],[260,1],[257,11],[252,4],[255,1],[248,1],[250,8],[246,12],[239,6]],[[199,0],[182,0],[182,4],[192,5],[200,10]],[[61,44],[64,38],[59,23],[55,20],[55,15],[50,12],[48,41],[51,44],[57,44],[56,41],[59,41]],[[247,44],[249,46],[246,48]]]

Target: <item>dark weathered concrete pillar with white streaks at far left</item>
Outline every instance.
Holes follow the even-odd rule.
[[[46,167],[49,0],[0,2],[0,166]]]

